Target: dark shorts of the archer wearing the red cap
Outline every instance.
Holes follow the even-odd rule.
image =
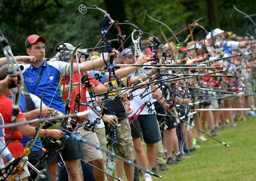
[[[79,158],[83,158],[85,156],[81,142],[78,142],[75,140],[68,140],[66,145],[61,150],[61,154],[62,154],[63,161],[73,161]],[[47,163],[52,159],[54,155],[55,155],[55,152],[52,151],[50,156],[48,156],[48,158],[46,159]],[[59,163],[59,162],[60,162],[60,156],[58,154],[49,163]]]

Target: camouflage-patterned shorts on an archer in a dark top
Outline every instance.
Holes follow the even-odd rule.
[[[126,160],[135,160],[135,149],[132,141],[131,127],[128,119],[121,120],[120,130],[117,132],[117,143],[116,149],[120,156]]]

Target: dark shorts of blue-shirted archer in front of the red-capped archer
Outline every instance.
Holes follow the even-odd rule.
[[[32,165],[36,165],[36,163],[38,162],[38,160],[41,158],[41,156],[44,154],[43,151],[33,151],[32,153],[30,153],[28,155],[28,161],[29,163],[31,163]],[[44,161],[41,163],[41,165],[37,168],[38,170],[43,170],[43,169],[46,169],[46,172],[44,173],[44,175],[46,176],[45,178],[41,178],[40,180],[42,181],[51,181],[51,177],[50,177],[50,173],[49,173],[49,170],[48,170],[48,167],[47,167],[47,162]],[[30,167],[28,167],[28,170],[32,170]],[[32,181],[32,180],[35,180],[37,177],[37,174],[36,172],[34,172],[30,177],[28,177],[29,181]]]

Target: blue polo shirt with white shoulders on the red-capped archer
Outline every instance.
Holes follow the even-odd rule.
[[[40,83],[36,85],[38,76],[43,67],[45,67],[45,69],[42,78]],[[68,67],[69,63],[67,62],[47,62],[46,60],[44,60],[42,66],[38,68],[34,67],[32,64],[25,65],[22,74],[24,76],[26,91],[41,98],[44,89],[52,84],[44,92],[43,102],[45,105],[65,113],[65,105],[60,91],[60,77],[68,74]]]

